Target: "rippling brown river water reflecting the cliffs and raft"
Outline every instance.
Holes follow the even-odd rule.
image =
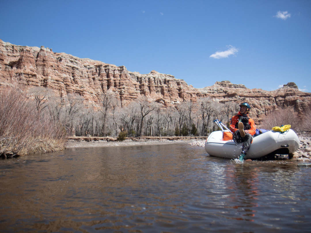
[[[311,168],[187,143],[0,160],[1,232],[311,232]]]

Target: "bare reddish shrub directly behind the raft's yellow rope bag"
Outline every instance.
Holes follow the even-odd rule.
[[[261,122],[260,128],[271,130],[274,126],[290,125],[294,131],[299,131],[299,118],[292,107],[286,107],[270,112]]]

